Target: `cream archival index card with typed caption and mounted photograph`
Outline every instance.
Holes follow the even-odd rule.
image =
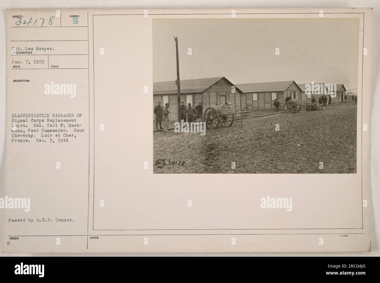
[[[3,252],[370,250],[372,9],[9,9]]]

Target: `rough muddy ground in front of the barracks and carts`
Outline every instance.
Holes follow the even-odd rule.
[[[353,103],[243,119],[242,126],[236,120],[228,128],[207,129],[204,136],[171,130],[153,137],[154,163],[166,161],[163,168],[154,166],[155,173],[356,173]]]

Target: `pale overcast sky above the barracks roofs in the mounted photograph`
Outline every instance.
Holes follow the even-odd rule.
[[[154,19],[154,82],[177,78],[174,36],[181,80],[358,84],[358,19]]]

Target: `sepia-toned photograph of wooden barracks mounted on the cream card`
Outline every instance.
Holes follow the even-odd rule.
[[[356,173],[358,27],[154,19],[154,173]]]

